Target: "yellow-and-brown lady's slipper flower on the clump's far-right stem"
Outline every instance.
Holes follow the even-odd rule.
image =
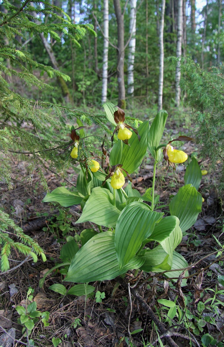
[[[164,159],[166,161],[166,170],[168,170],[169,166],[172,166],[172,168],[176,170],[175,164],[184,163],[184,161],[188,159],[187,153],[183,151],[175,150],[173,146],[171,146],[170,144],[173,141],[187,142],[187,141],[191,141],[192,139],[193,138],[188,136],[179,136],[178,138],[175,138],[174,140],[170,141],[166,145],[165,149],[163,150]]]

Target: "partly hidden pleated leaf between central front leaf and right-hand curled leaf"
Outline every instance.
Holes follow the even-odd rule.
[[[167,254],[162,246],[157,246],[153,249],[144,249],[139,253],[139,257],[144,259],[140,269],[146,272],[162,272],[171,270],[171,265],[168,264],[169,254]]]

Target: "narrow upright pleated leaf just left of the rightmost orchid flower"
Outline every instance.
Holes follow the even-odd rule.
[[[168,113],[160,110],[154,118],[148,135],[148,150],[153,158],[158,161],[161,158],[161,150],[157,150],[165,129]]]

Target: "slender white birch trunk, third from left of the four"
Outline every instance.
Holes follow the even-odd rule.
[[[158,90],[158,111],[163,108],[163,66],[164,66],[164,47],[163,47],[163,31],[164,31],[164,13],[166,0],[162,0],[162,11],[160,20],[160,75],[159,75],[159,90]]]

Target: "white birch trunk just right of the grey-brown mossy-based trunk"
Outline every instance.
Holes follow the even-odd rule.
[[[128,94],[134,96],[134,61],[135,61],[135,44],[136,44],[136,0],[130,0],[130,23],[129,33],[131,36],[129,42],[128,54]]]

